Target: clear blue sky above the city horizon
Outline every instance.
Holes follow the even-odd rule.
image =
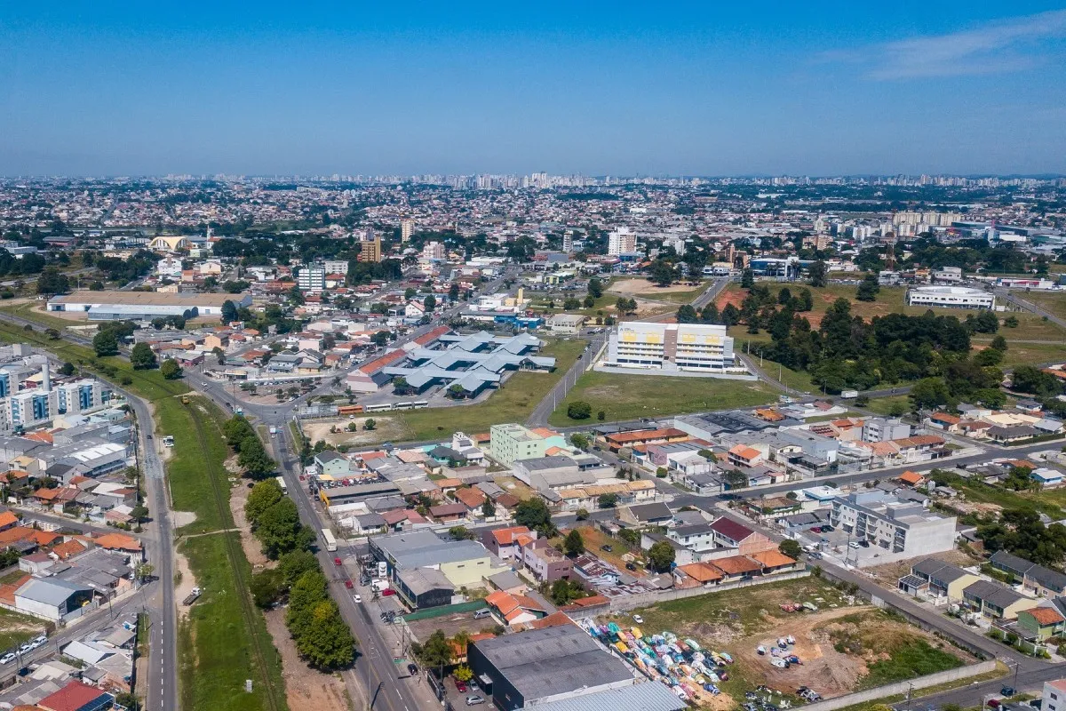
[[[0,175],[1066,173],[1063,2],[0,9]]]

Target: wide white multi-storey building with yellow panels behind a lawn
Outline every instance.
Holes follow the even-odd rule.
[[[603,366],[657,373],[745,373],[725,326],[627,321],[610,335]]]

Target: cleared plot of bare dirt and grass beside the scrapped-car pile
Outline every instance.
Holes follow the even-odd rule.
[[[785,602],[811,602],[819,611],[785,613],[779,608]],[[732,655],[736,663],[726,667],[730,679],[721,688],[741,702],[744,692],[759,684],[786,692],[786,698],[800,685],[840,696],[969,661],[890,614],[850,607],[839,591],[815,578],[710,593],[637,612],[645,634],[669,630]],[[777,668],[769,655],[757,652],[759,645],[769,648],[790,634],[802,665]],[[717,699],[714,706],[718,708]]]

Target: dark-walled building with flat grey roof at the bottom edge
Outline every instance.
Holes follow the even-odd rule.
[[[501,711],[631,686],[624,662],[576,625],[479,640],[468,648],[474,678]]]

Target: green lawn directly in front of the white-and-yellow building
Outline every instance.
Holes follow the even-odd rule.
[[[566,408],[576,400],[592,404],[594,414],[603,410],[607,420],[631,420],[764,405],[777,400],[777,391],[759,381],[589,372],[578,379],[548,421],[564,426],[595,424],[595,420],[567,417]]]

